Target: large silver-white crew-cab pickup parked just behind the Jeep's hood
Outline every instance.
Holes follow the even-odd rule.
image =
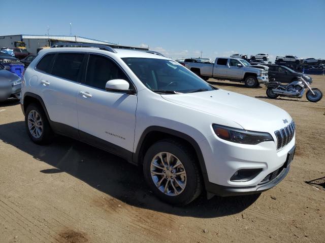
[[[251,67],[249,62],[240,58],[217,57],[211,64],[184,62],[184,65],[204,80],[215,78],[244,82],[249,88],[269,82],[266,70]]]

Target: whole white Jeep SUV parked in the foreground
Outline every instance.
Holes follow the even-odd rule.
[[[117,154],[176,205],[203,191],[259,193],[288,173],[295,124],[284,110],[155,53],[93,47],[42,50],[26,69],[21,107],[35,143],[60,134]]]

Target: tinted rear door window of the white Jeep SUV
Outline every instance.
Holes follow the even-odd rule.
[[[80,53],[59,53],[51,74],[77,82],[83,57]]]

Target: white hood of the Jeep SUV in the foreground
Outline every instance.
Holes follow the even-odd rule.
[[[290,115],[275,105],[221,89],[161,96],[170,102],[234,121],[250,131],[273,133],[291,121]],[[288,123],[284,123],[286,121]],[[212,121],[217,122],[218,119]]]

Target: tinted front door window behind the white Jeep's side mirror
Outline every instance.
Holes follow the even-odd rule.
[[[90,55],[86,85],[105,90],[107,81],[113,79],[128,80],[121,68],[112,60],[100,55]]]

